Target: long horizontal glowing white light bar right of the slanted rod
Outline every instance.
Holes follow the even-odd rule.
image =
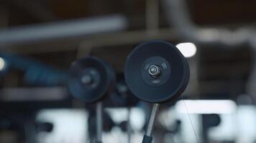
[[[232,100],[180,100],[175,109],[184,114],[231,114],[237,104]]]

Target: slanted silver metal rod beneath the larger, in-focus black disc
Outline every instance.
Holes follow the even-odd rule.
[[[153,104],[152,111],[151,111],[151,114],[150,114],[150,121],[148,122],[148,125],[147,125],[146,135],[148,137],[151,137],[151,135],[152,135],[152,129],[153,129],[153,126],[154,126],[155,116],[157,114],[158,107],[159,107],[159,104]]]

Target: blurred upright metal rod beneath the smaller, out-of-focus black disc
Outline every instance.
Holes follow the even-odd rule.
[[[96,104],[96,142],[102,142],[102,102]]]

